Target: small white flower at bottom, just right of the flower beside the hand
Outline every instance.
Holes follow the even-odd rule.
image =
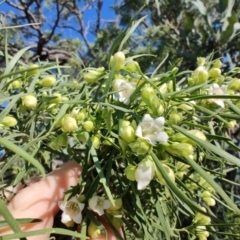
[[[104,214],[104,210],[112,206],[109,200],[104,197],[93,196],[88,202],[89,208],[92,209],[99,216]]]

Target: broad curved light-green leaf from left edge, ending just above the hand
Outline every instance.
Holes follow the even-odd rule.
[[[16,153],[18,156],[24,158],[26,161],[28,161],[30,164],[36,167],[43,176],[45,175],[45,170],[43,166],[38,162],[38,160],[33,158],[29,153],[24,151],[22,148],[18,147],[14,143],[11,143],[10,141],[1,137],[0,137],[0,144],[8,148],[9,150],[13,151],[14,153]]]

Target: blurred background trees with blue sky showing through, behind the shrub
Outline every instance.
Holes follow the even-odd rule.
[[[58,58],[65,63],[75,54],[85,65],[101,65],[113,39],[144,4],[137,18],[146,18],[125,46],[130,53],[155,55],[140,59],[143,70],[158,65],[167,54],[166,68],[177,64],[194,69],[196,56],[211,53],[213,58],[223,57],[230,68],[239,59],[239,0],[115,1],[112,21],[103,20],[103,0],[6,0],[5,4],[13,9],[2,12],[6,25],[31,24],[21,28],[17,38],[14,33],[10,41],[11,53],[23,45],[32,46],[28,61]],[[93,16],[90,22],[84,17],[88,11]]]

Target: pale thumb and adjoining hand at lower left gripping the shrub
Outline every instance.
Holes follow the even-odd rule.
[[[59,211],[58,201],[64,192],[77,184],[81,167],[74,161],[64,164],[45,179],[20,190],[8,208],[15,218],[37,218],[42,222],[21,225],[23,231],[51,228],[55,214]],[[0,229],[0,236],[9,229]],[[30,240],[45,240],[49,235],[29,237]]]

